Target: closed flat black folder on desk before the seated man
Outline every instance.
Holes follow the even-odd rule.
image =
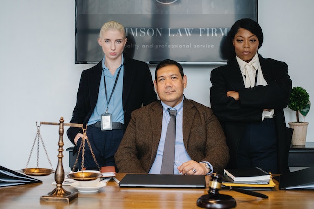
[[[120,187],[205,188],[204,175],[126,174]]]

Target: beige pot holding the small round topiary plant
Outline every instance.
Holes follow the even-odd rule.
[[[292,145],[304,146],[306,132],[308,130],[308,122],[289,122],[290,128],[293,128]]]

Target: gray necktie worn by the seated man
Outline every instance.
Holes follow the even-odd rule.
[[[176,142],[176,115],[177,110],[167,109],[170,113],[165,145],[163,148],[163,157],[161,165],[161,174],[173,174],[175,162],[175,142]]]

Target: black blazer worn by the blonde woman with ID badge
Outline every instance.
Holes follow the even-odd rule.
[[[133,110],[157,101],[152,75],[144,62],[124,58],[122,103],[124,127],[126,128]],[[70,123],[87,124],[96,106],[99,84],[102,75],[102,61],[90,69],[84,70],[79,82],[77,102]],[[114,121],[113,121],[114,122]],[[80,128],[70,127],[67,135],[74,144],[74,138]]]

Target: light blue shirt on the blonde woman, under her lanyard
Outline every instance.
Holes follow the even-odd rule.
[[[100,121],[101,114],[106,112],[108,107],[108,113],[111,113],[112,122],[120,122],[123,123],[124,115],[123,115],[123,106],[122,106],[122,89],[123,89],[123,56],[122,63],[119,68],[115,71],[114,75],[112,75],[109,69],[105,66],[105,56],[102,60],[102,76],[100,79],[99,90],[98,90],[98,99],[96,106],[93,110],[92,115],[90,116],[87,125],[91,125]],[[104,76],[106,81],[107,88],[107,98],[109,100],[115,80],[117,78],[118,72],[120,70],[119,78],[112,94],[109,105],[107,104],[106,94],[105,94],[105,85],[104,85]]]

